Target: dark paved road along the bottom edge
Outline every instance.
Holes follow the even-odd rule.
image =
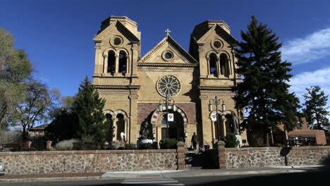
[[[118,180],[84,180],[84,181],[57,181],[57,182],[0,182],[3,185],[18,186],[59,186],[59,185],[82,185],[82,186],[136,186],[136,185],[290,185],[290,186],[316,186],[329,185],[330,172],[318,171],[308,173],[282,173],[272,175],[216,175],[216,176],[199,176],[190,178],[135,178],[135,179],[118,179]]]

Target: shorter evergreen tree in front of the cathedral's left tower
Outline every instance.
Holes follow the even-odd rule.
[[[78,117],[78,137],[82,141],[102,142],[106,135],[105,100],[99,97],[88,77],[82,81],[71,112]]]

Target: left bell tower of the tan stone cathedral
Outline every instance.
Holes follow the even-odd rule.
[[[128,142],[135,142],[137,134],[140,38],[138,24],[126,16],[106,18],[93,38],[93,85],[100,97],[106,99],[104,112],[112,120],[111,130],[115,135],[124,132]]]

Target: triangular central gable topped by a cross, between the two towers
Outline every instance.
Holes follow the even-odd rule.
[[[198,62],[190,56],[170,35],[166,35],[154,48],[152,48],[138,63],[159,64],[197,64]]]

